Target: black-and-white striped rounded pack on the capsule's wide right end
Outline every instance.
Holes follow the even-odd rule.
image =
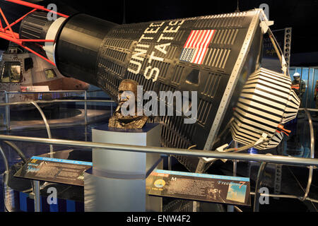
[[[249,76],[233,112],[230,131],[235,141],[250,144],[267,133],[269,141],[258,149],[274,148],[283,139],[279,127],[297,116],[300,100],[291,89],[290,78],[259,69]]]

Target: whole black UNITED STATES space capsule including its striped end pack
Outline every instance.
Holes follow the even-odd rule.
[[[48,20],[43,6],[8,1],[34,9],[18,33],[1,26],[0,37],[39,54],[64,76],[97,85],[114,99],[126,78],[143,91],[196,91],[195,123],[184,124],[184,115],[154,117],[163,125],[165,147],[214,150],[226,139],[251,144],[266,133],[266,142],[255,146],[273,148],[288,133],[283,124],[298,113],[281,52],[282,73],[261,67],[263,35],[273,39],[261,9],[118,25],[83,13],[54,12],[57,20]],[[195,170],[193,161],[176,157]]]

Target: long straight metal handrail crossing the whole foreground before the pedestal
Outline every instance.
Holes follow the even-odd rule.
[[[269,162],[269,163],[283,164],[283,165],[318,167],[318,159],[311,159],[311,158],[305,158],[305,157],[289,157],[289,156],[277,156],[277,155],[269,156],[269,155],[263,155],[263,154],[251,155],[249,153],[222,153],[218,151],[206,151],[206,150],[189,151],[187,149],[178,149],[178,148],[162,148],[162,147],[138,146],[138,145],[119,145],[119,144],[112,144],[112,143],[71,141],[71,140],[55,139],[55,138],[48,139],[48,138],[35,138],[35,137],[11,136],[11,135],[0,135],[0,140],[66,145],[66,146],[76,146],[76,147],[83,147],[83,148],[102,148],[107,150],[131,151],[131,152],[137,152],[137,153],[157,153],[157,154],[163,154],[163,155],[187,155],[192,157],[214,157],[218,159],[228,159],[228,160]]]

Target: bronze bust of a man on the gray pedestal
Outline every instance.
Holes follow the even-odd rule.
[[[131,79],[124,79],[118,87],[118,106],[114,112],[114,115],[110,118],[108,122],[109,127],[119,128],[119,129],[141,129],[146,124],[148,117],[144,114],[137,114],[137,86],[139,84]],[[127,92],[129,91],[129,92]],[[134,93],[134,96],[131,95]],[[122,105],[130,98],[134,97],[135,102],[135,114],[126,115],[122,114]],[[141,100],[142,101],[142,100]]]

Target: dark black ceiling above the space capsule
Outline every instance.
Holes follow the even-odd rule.
[[[125,7],[124,0],[45,0],[38,1],[37,4],[47,6],[49,3],[54,3],[57,4],[58,11],[62,13],[71,15],[81,11],[114,23],[122,23],[124,14],[126,23],[138,23],[149,20],[232,13],[237,8],[237,0],[126,0],[125,2]],[[293,54],[318,52],[318,0],[240,0],[239,9],[240,11],[247,11],[252,8],[259,8],[260,4],[269,5],[269,19],[274,20],[272,30],[293,28],[291,47]],[[17,6],[4,0],[0,0],[0,7],[8,15],[10,21],[30,11],[30,8]]]

